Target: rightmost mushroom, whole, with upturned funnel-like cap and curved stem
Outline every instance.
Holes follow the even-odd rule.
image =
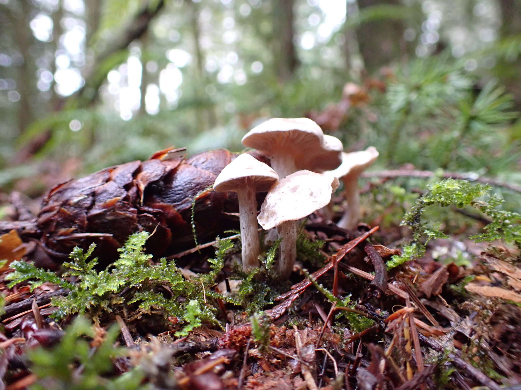
[[[373,165],[377,157],[378,150],[373,146],[358,152],[342,153],[342,164],[333,171],[325,172],[325,174],[341,179],[344,183],[345,200],[348,201],[348,206],[337,223],[339,227],[344,229],[356,227],[361,216],[358,177]]]

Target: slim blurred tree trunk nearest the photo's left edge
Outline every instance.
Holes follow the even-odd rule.
[[[13,22],[13,29],[15,42],[23,57],[16,81],[16,89],[20,94],[18,103],[18,134],[22,134],[33,120],[31,97],[33,95],[32,85],[35,81],[35,64],[30,53],[30,48],[33,44],[32,31],[29,27],[32,7],[28,1],[22,1],[19,4],[21,5],[20,14]]]

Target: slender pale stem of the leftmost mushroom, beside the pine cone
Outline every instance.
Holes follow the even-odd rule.
[[[253,186],[237,190],[239,223],[241,225],[242,268],[259,267],[259,236],[257,232],[257,200]]]

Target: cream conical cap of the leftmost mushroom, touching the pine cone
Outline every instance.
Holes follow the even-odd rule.
[[[240,154],[226,165],[215,179],[214,191],[237,191],[245,185],[254,186],[256,191],[268,191],[279,179],[279,175],[268,165],[250,154]]]

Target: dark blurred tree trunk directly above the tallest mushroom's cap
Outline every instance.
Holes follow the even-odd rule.
[[[286,82],[292,79],[299,65],[296,57],[294,37],[294,0],[278,0],[273,4],[274,25],[274,61],[279,80]]]

